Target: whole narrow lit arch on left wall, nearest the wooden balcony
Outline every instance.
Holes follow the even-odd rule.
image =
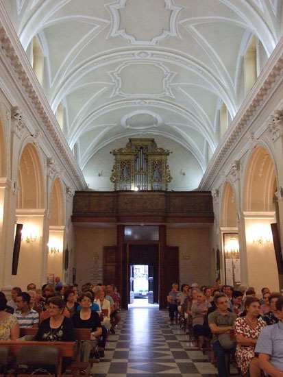
[[[62,278],[64,224],[65,210],[63,189],[60,180],[56,178],[53,182],[50,202],[48,273],[51,275],[49,276],[60,276]]]

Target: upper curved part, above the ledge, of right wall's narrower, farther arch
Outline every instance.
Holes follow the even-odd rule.
[[[225,182],[221,199],[221,227],[237,227],[237,209],[234,189],[230,182]]]

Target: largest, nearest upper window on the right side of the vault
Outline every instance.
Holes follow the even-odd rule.
[[[256,57],[256,37],[253,36],[249,42],[249,46],[247,47],[244,57],[245,95],[249,94],[249,91],[253,87],[258,77]]]

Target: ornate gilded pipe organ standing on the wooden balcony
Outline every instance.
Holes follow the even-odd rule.
[[[167,191],[172,177],[168,149],[158,148],[153,138],[130,138],[125,148],[110,153],[115,162],[110,177],[114,191]]]

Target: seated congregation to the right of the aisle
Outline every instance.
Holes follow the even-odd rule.
[[[217,367],[219,377],[238,375],[283,376],[283,297],[279,292],[254,287],[212,287],[173,282],[167,295],[170,324],[179,324],[188,339]]]

